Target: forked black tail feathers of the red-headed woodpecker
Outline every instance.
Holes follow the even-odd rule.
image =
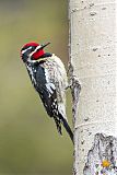
[[[56,118],[56,117],[54,117],[54,118],[55,118],[55,121],[56,121],[56,125],[57,125],[57,130],[59,131],[59,133],[62,135],[62,132],[61,132],[61,122],[62,122],[62,125],[63,125],[66,131],[68,132],[71,141],[73,142],[73,132],[72,132],[70,126],[68,125],[68,121],[66,120],[66,118],[63,118],[61,114],[59,114],[59,119],[60,120],[58,120],[58,118]]]

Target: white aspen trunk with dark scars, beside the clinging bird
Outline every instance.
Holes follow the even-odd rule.
[[[74,175],[117,175],[116,3],[69,0]]]

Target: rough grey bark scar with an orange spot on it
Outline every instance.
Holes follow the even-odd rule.
[[[117,175],[117,138],[96,133],[83,175]]]

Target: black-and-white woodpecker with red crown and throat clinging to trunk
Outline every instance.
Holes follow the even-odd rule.
[[[58,132],[62,135],[63,126],[73,142],[73,132],[66,114],[67,71],[59,57],[44,50],[49,44],[27,43],[21,49],[21,58],[48,116],[54,118]]]

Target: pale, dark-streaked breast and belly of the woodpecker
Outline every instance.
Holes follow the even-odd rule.
[[[47,58],[40,67],[44,68],[47,80],[47,88],[55,89],[57,95],[58,110],[67,119],[66,116],[66,88],[68,85],[67,72],[61,60],[52,55]]]

